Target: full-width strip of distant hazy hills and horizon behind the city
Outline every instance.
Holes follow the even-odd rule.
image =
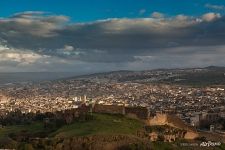
[[[225,67],[155,69],[144,71],[119,70],[90,75],[74,72],[0,73],[0,85],[49,80],[91,80],[93,82],[137,82],[184,85],[225,85]]]

